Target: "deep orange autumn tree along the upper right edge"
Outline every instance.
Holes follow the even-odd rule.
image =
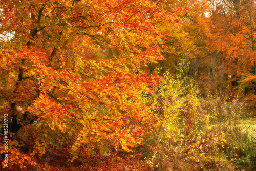
[[[255,75],[255,2],[210,2],[210,53],[222,61],[222,79],[231,87],[252,86]]]

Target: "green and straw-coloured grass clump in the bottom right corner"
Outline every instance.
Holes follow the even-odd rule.
[[[234,159],[237,170],[256,170],[256,118],[234,120],[226,131],[230,134],[226,155]]]

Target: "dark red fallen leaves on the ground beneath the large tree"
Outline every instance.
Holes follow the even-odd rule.
[[[117,153],[114,156],[109,157],[98,157],[98,158],[88,158],[87,164],[82,164],[79,161],[63,162],[65,159],[71,157],[69,153],[64,151],[63,149],[58,156],[53,157],[49,161],[49,165],[51,170],[88,170],[88,171],[103,171],[103,170],[150,170],[151,168],[148,164],[143,160],[143,151],[138,148],[135,152],[123,152]]]

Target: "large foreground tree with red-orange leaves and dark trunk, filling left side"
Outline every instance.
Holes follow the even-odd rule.
[[[2,2],[1,117],[9,116],[12,151],[42,156],[65,146],[72,161],[140,144],[155,122],[141,92],[159,78],[138,66],[163,59],[160,24],[178,22],[180,13],[160,4]],[[24,143],[29,149],[18,151]]]

